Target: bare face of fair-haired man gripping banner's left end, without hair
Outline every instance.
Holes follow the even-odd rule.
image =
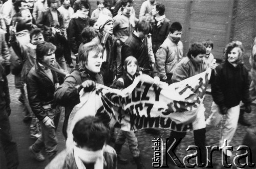
[[[96,51],[90,51],[87,58],[86,68],[92,73],[99,73],[102,64],[102,53],[96,54]]]

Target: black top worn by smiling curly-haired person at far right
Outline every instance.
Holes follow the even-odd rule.
[[[215,79],[211,84],[211,94],[217,105],[231,108],[243,103],[250,103],[249,74],[243,64],[234,67],[228,61],[215,69]]]

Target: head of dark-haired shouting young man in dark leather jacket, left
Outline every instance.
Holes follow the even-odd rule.
[[[36,45],[36,61],[53,66],[56,46],[50,42],[40,42]]]

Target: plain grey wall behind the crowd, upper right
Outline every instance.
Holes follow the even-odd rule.
[[[97,0],[91,0],[92,10],[97,8]],[[136,15],[139,15],[144,0],[134,0]],[[189,43],[211,39],[214,41],[216,59],[222,59],[223,49],[231,40],[243,42],[246,50],[246,66],[250,43],[255,37],[256,1],[239,0],[159,0],[165,5],[166,17],[171,22],[179,21],[183,25],[182,42],[184,55]]]

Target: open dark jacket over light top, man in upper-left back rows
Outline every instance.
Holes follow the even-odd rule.
[[[63,18],[58,10],[56,10],[58,15],[59,28],[64,28]],[[50,24],[53,21],[52,13],[50,8],[47,8],[42,12],[41,17],[37,19],[38,28],[44,29],[44,31],[48,31],[50,29]]]

